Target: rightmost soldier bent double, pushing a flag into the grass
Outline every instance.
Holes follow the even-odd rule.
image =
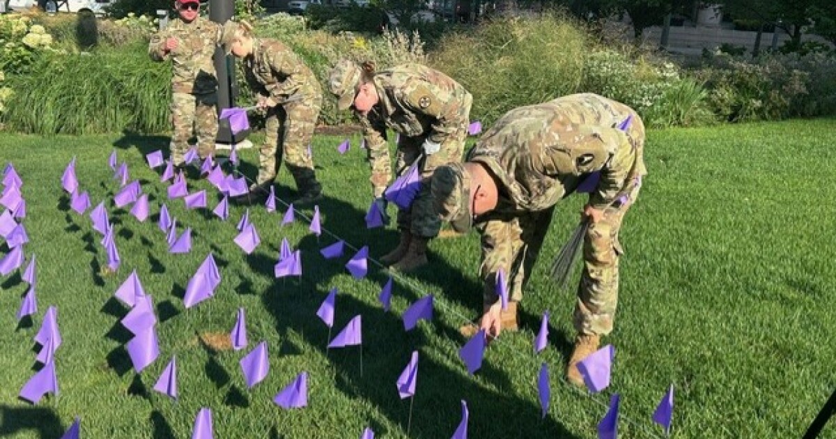
[[[626,128],[624,128],[626,126]],[[516,329],[517,302],[537,260],[554,206],[598,173],[584,217],[584,271],[574,326],[578,331],[568,378],[583,385],[576,365],[613,329],[618,301],[619,229],[645,176],[645,127],[635,111],[596,94],[573,94],[507,112],[470,151],[466,163],[442,166],[432,180],[437,212],[457,231],[473,222],[482,233],[484,314],[496,337]],[[510,298],[502,310],[497,273],[507,273]],[[463,328],[465,334],[476,330]]]

